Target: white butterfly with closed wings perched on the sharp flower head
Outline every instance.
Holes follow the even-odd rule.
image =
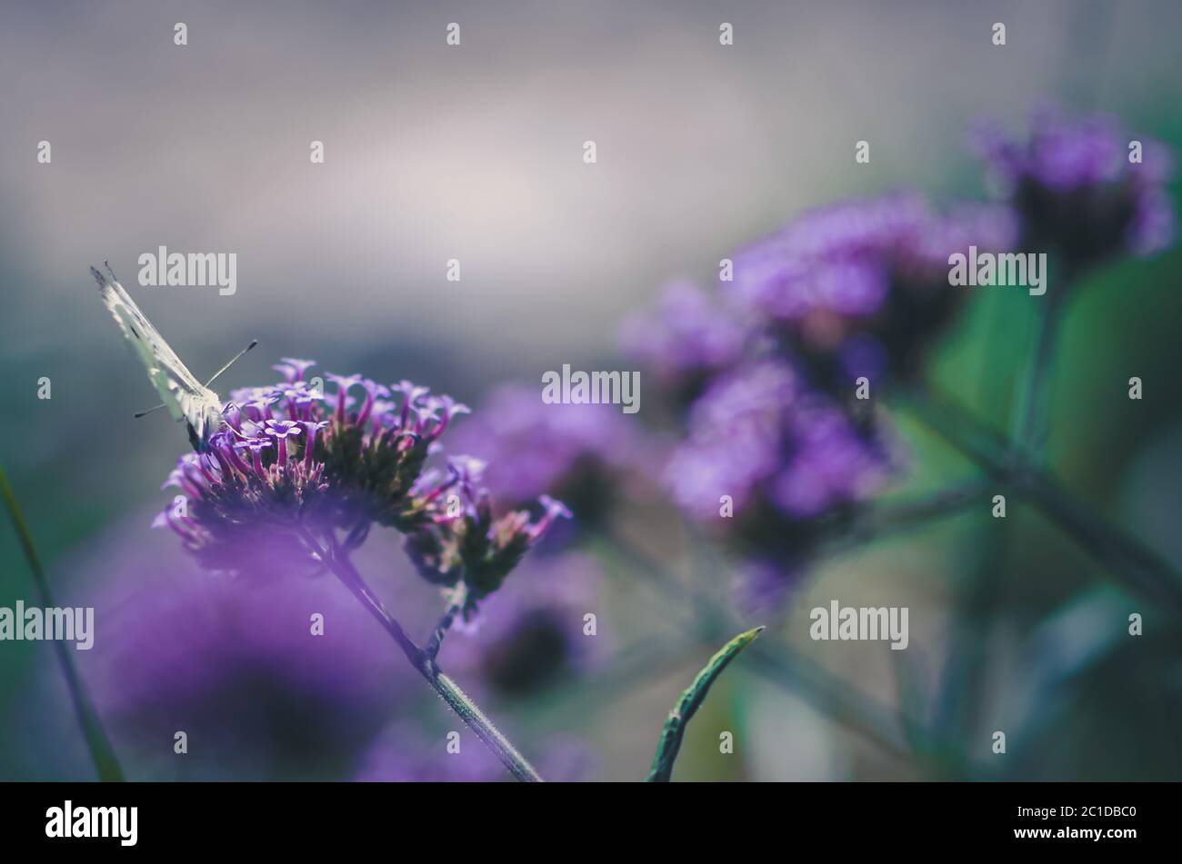
[[[139,307],[123,289],[123,286],[116,281],[110,266],[108,264],[105,274],[99,273],[93,267],[90,268],[90,271],[95,276],[95,281],[98,282],[103,303],[111,312],[119,329],[123,330],[131,352],[143,362],[148,371],[148,378],[160,394],[162,405],[156,407],[168,408],[168,413],[177,423],[184,420],[194,450],[206,450],[209,437],[226,426],[221,400],[216,393],[209,390],[209,385],[217,375],[228,369],[234,360],[238,360],[258,342],[251,342],[238,356],[219,369],[217,374],[209,381],[201,384],[181,362],[181,358],[169,347],[164,338],[151,326],[148,316],[139,312]],[[155,410],[150,408],[149,411]],[[147,413],[145,411],[136,417]]]

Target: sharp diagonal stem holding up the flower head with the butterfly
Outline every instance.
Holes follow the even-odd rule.
[[[431,686],[431,689],[476,733],[476,738],[483,741],[496,754],[496,758],[501,760],[501,764],[508,772],[524,783],[540,783],[541,777],[534,771],[526,758],[518,752],[517,747],[493,726],[488,716],[460,689],[455,681],[443,674],[439,666],[436,666],[434,657],[429,657],[426,652],[411,641],[407,631],[402,629],[402,624],[389,613],[382,601],[366,584],[365,580],[357,572],[352,561],[349,559],[348,552],[343,551],[336,543],[331,544],[330,550],[324,550],[306,528],[301,528],[300,534],[304,542],[324,562],[325,567],[345,584],[353,596],[361,601],[362,606],[369,609],[370,614],[377,618],[377,622],[394,637],[402,653],[407,655],[407,660],[423,676],[427,683]]]

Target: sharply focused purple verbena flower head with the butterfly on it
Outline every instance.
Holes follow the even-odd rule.
[[[325,393],[307,379],[311,365],[285,359],[277,368],[286,381],[232,393],[227,426],[169,476],[165,486],[181,495],[156,524],[203,565],[247,575],[318,569],[338,532],[349,550],[382,525],[411,536],[415,551],[430,539],[439,567],[420,556],[420,570],[444,587],[468,582],[475,603],[564,512],[547,499],[535,521],[524,511],[494,519],[476,463],[424,470],[467,406],[359,375],[326,374]]]

